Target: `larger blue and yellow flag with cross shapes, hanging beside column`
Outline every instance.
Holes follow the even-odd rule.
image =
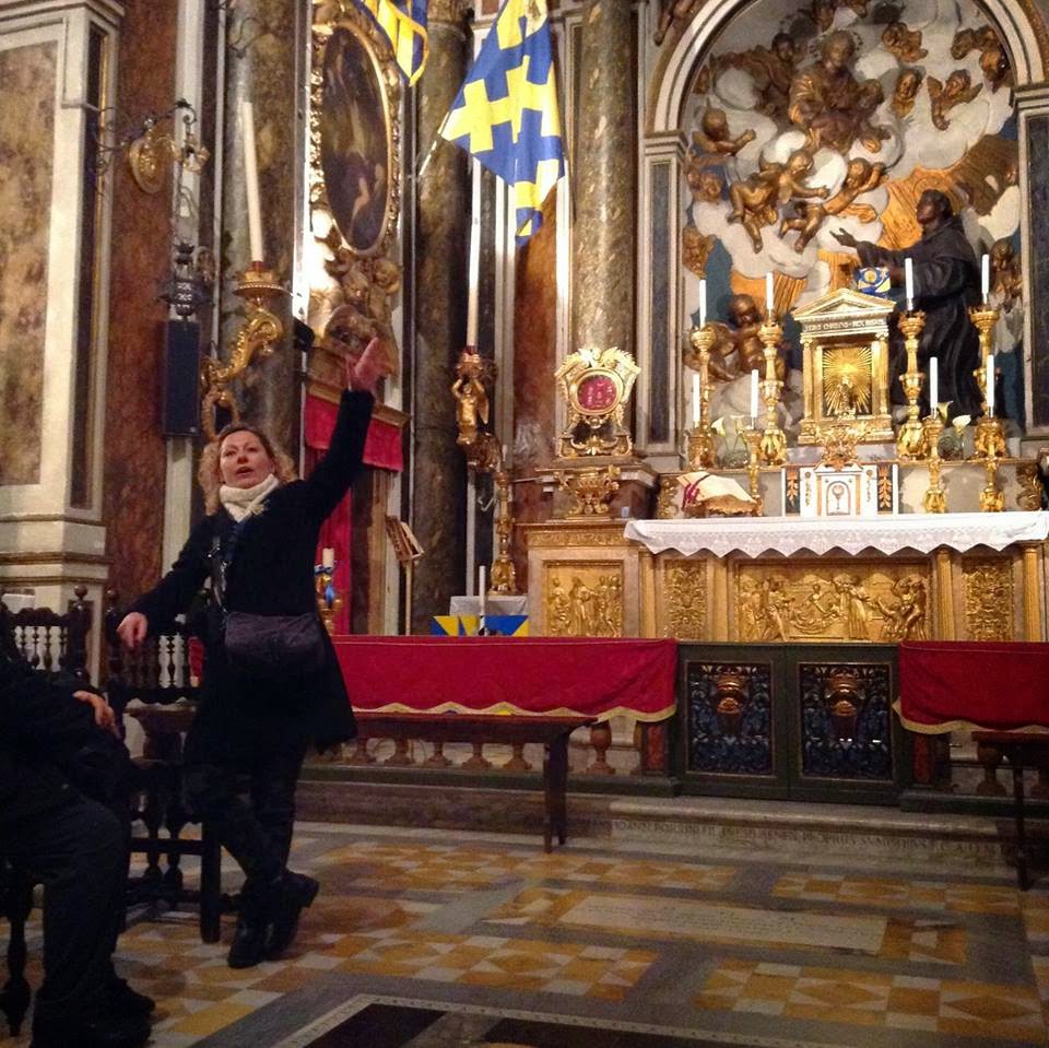
[[[505,0],[440,134],[512,187],[528,240],[565,173],[546,0]]]

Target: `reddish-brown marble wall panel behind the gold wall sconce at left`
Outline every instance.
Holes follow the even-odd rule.
[[[121,28],[117,106],[132,117],[175,101],[177,4],[129,4]],[[205,143],[209,149],[212,143]],[[122,599],[161,570],[165,446],[161,366],[166,307],[157,281],[170,272],[170,184],[155,196],[114,165],[109,344],[103,513],[110,585]]]

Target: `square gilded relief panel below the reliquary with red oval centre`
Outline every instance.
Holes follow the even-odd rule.
[[[622,637],[623,564],[543,565],[543,633],[547,637]]]

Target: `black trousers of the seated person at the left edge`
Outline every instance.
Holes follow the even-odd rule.
[[[70,790],[64,804],[0,823],[0,850],[44,884],[44,985],[34,1023],[101,1015],[123,922],[126,817]]]

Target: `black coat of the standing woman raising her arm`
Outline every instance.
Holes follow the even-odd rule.
[[[328,454],[307,480],[273,491],[262,511],[241,527],[226,572],[229,611],[260,615],[316,611],[318,533],[361,470],[373,402],[366,392],[343,393]],[[211,577],[214,537],[220,552],[226,552],[234,528],[225,509],[205,517],[167,575],[134,602],[131,610],[145,615],[151,633],[189,608]],[[327,633],[323,669],[290,688],[235,676],[217,636],[217,615],[209,621],[201,699],[186,741],[187,762],[236,766],[299,740],[328,746],[353,738],[353,711]]]

